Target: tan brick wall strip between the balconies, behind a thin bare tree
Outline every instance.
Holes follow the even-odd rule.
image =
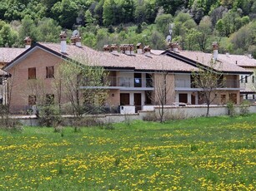
[[[173,74],[168,74],[166,76],[166,81],[167,81],[167,96],[166,96],[166,101],[167,101],[167,105],[171,105],[173,104],[173,102],[175,102],[175,78]],[[155,89],[157,89],[159,86],[163,86],[163,74],[161,73],[155,73],[153,75],[153,85],[155,87]],[[157,91],[155,90],[153,92],[153,94],[155,95],[155,102],[158,102],[158,96],[157,96]]]

